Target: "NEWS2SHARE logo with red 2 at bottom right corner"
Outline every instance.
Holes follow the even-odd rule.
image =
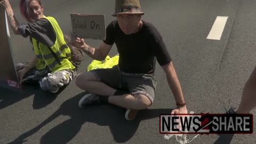
[[[252,114],[163,114],[162,134],[252,134]]]

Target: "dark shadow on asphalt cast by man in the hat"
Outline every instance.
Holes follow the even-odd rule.
[[[10,143],[22,143],[30,135],[35,134],[46,124],[52,122],[60,115],[67,115],[70,119],[53,127],[43,135],[40,143],[67,143],[73,139],[81,130],[84,123],[96,123],[102,126],[109,126],[116,142],[126,142],[131,139],[137,131],[139,123],[144,119],[159,117],[163,113],[171,113],[172,109],[147,109],[141,110],[133,121],[126,121],[124,118],[125,109],[113,105],[91,106],[80,109],[78,101],[86,92],[77,94],[75,97],[62,103],[60,109],[55,111],[50,117],[41,124],[21,134],[17,139]],[[124,131],[125,130],[125,131]]]

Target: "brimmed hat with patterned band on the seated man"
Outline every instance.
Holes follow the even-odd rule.
[[[139,0],[116,0],[115,13],[112,16],[116,17],[117,14],[128,13],[128,14],[145,14],[141,10]]]

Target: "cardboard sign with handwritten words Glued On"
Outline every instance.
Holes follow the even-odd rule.
[[[106,38],[104,14],[70,14],[73,34],[81,38]]]

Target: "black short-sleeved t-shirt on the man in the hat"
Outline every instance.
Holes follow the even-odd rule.
[[[103,42],[108,45],[116,44],[118,65],[125,73],[153,74],[156,59],[161,66],[171,61],[157,29],[149,22],[142,22],[142,28],[131,35],[123,33],[117,20],[110,22],[106,29],[106,40]]]

